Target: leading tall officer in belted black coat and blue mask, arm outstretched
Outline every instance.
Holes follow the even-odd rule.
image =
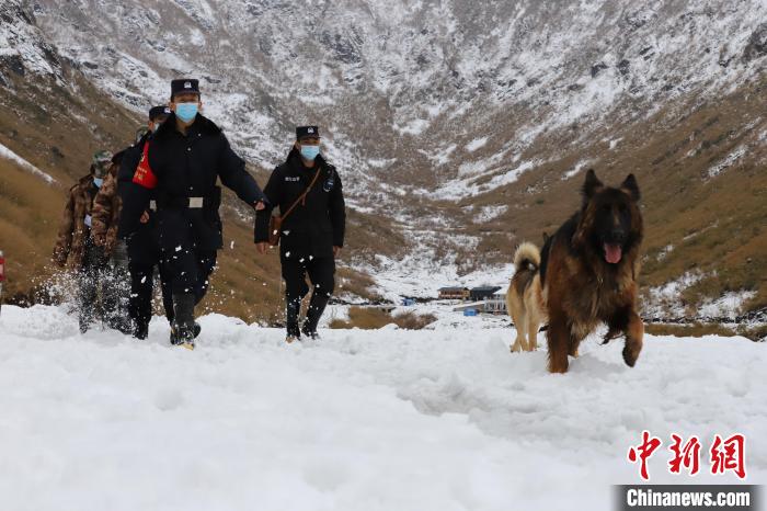
[[[171,82],[172,113],[152,135],[134,175],[135,183],[154,191],[160,250],[173,293],[171,342],[190,349],[198,333],[194,307],[205,296],[224,245],[217,179],[256,211],[266,202],[221,129],[199,114],[201,106],[197,80]]]

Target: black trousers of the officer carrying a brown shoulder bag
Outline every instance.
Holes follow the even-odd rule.
[[[287,304],[287,333],[299,337],[298,315],[301,309],[301,300],[309,293],[306,282],[307,274],[311,281],[313,291],[307,310],[307,319],[304,323],[305,333],[317,331],[317,325],[328,305],[335,288],[335,259],[309,258],[290,254],[281,257],[283,279],[285,280],[285,299]]]

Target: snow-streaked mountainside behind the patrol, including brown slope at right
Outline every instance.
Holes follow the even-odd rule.
[[[38,37],[3,45],[2,76],[16,55],[46,63],[55,48],[135,112],[164,101],[171,78],[201,77],[207,114],[264,170],[295,124],[321,124],[350,205],[368,215],[360,236],[409,240],[359,243],[353,265],[381,282],[409,273],[416,292],[435,268],[497,268],[570,214],[594,167],[607,181],[634,172],[643,188],[657,314],[728,293],[767,305],[763,1],[21,5]]]

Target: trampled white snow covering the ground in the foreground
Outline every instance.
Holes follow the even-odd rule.
[[[767,479],[767,345],[742,338],[585,342],[566,375],[511,354],[503,318],[434,329],[283,332],[211,315],[194,352],[80,336],[64,308],[0,315],[0,496],[22,510],[572,510],[611,508],[642,430],[664,440],[652,482],[709,475],[713,434],[747,439]],[[460,318],[460,319],[459,319]],[[472,319],[474,322],[472,322]],[[672,432],[703,452],[665,468]]]

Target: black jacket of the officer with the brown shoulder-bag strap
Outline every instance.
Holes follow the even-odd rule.
[[[272,172],[264,193],[270,204],[255,215],[255,242],[268,241],[268,218],[272,208],[286,212],[320,172],[306,203],[299,204],[283,223],[279,237],[281,252],[297,256],[332,257],[333,247],[343,247],[346,228],[341,178],[335,167],[318,156],[313,168],[304,167],[294,147],[287,161]]]

